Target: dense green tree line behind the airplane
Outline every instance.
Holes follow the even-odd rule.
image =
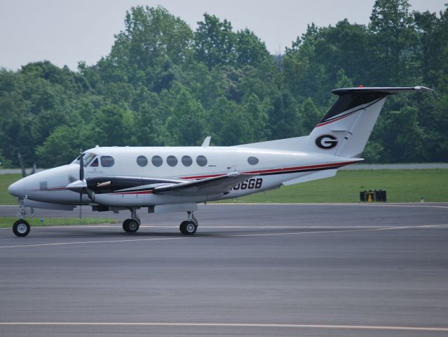
[[[236,145],[303,136],[334,88],[416,86],[386,101],[363,157],[447,161],[448,8],[377,0],[369,25],[308,25],[282,55],[250,29],[205,13],[192,30],[163,7],[137,6],[109,55],[77,71],[48,61],[0,70],[0,161],[50,167],[80,148]]]

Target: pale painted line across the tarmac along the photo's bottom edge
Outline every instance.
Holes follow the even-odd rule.
[[[247,328],[296,328],[296,329],[355,329],[399,331],[448,331],[448,327],[431,326],[375,326],[337,324],[258,324],[258,323],[177,323],[177,322],[0,322],[0,326],[198,326],[198,327],[247,327]]]

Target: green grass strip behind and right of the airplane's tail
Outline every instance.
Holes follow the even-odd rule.
[[[388,202],[448,201],[448,170],[339,171],[333,178],[283,186],[219,202],[316,203],[360,202],[364,190],[386,190]]]

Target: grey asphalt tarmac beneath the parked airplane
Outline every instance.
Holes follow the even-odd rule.
[[[139,214],[0,229],[0,336],[448,336],[448,204]]]

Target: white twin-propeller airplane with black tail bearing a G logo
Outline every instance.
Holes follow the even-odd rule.
[[[18,237],[30,230],[26,207],[72,211],[128,209],[125,232],[137,232],[137,209],[149,213],[182,211],[182,234],[194,234],[198,203],[242,197],[336,175],[341,166],[362,161],[360,154],[386,96],[402,91],[430,91],[422,86],[340,88],[325,117],[309,136],[236,146],[95,147],[71,164],[22,178],[8,191],[19,198],[13,225]]]

